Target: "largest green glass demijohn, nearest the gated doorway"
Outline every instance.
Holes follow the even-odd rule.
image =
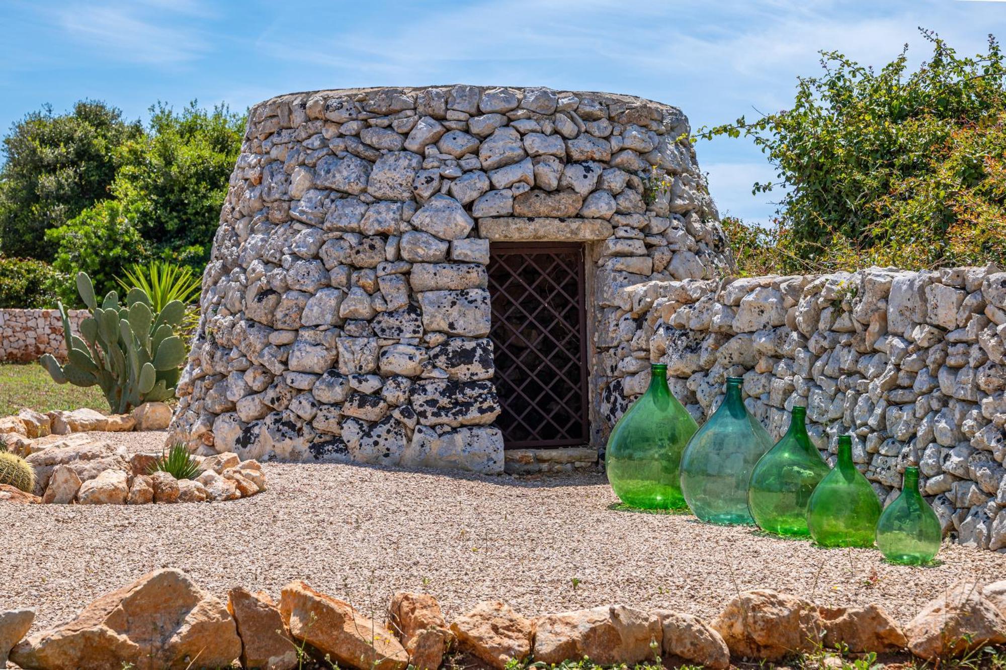
[[[605,466],[615,495],[644,509],[684,507],[678,466],[697,430],[667,386],[667,365],[653,365],[650,387],[622,414],[608,439]]]

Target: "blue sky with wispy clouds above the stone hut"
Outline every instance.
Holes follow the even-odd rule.
[[[1006,38],[999,0],[488,0],[198,2],[0,0],[0,128],[50,103],[155,101],[242,110],[294,91],[356,86],[548,86],[642,96],[692,127],[785,109],[819,49],[883,64],[917,26],[959,51]],[[767,220],[773,176],[742,140],[697,147],[721,213]]]

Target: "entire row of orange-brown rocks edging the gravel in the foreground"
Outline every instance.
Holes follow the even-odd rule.
[[[384,621],[375,621],[302,580],[287,584],[279,603],[236,587],[224,606],[173,568],[150,572],[72,621],[22,640],[34,612],[0,613],[0,661],[9,653],[25,670],[55,670],[141,659],[150,667],[230,667],[239,660],[243,668],[293,670],[307,655],[357,670],[436,670],[461,653],[495,670],[584,658],[601,665],[675,659],[723,670],[731,660],[778,662],[825,649],[938,661],[1006,643],[1006,580],[984,588],[960,581],[904,626],[879,605],[819,608],[770,590],[738,593],[711,622],[623,605],[529,619],[494,601],[449,626],[434,597],[407,592],[396,593]],[[155,625],[168,620],[178,625]]]

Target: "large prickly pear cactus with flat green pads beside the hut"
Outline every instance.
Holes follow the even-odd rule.
[[[186,355],[185,343],[174,334],[185,305],[175,300],[154,314],[147,294],[132,289],[125,307],[115,291],[99,307],[86,273],[77,274],[76,290],[91,316],[80,323],[81,337],[77,337],[70,333],[66,310],[59,305],[68,360],[60,365],[50,354],[39,359],[52,379],[75,386],[98,384],[109,407],[119,413],[173,397]]]

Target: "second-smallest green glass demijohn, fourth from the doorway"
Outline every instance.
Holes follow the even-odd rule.
[[[838,437],[838,463],[807,506],[807,527],[822,546],[873,546],[880,499],[852,463],[852,439]]]

